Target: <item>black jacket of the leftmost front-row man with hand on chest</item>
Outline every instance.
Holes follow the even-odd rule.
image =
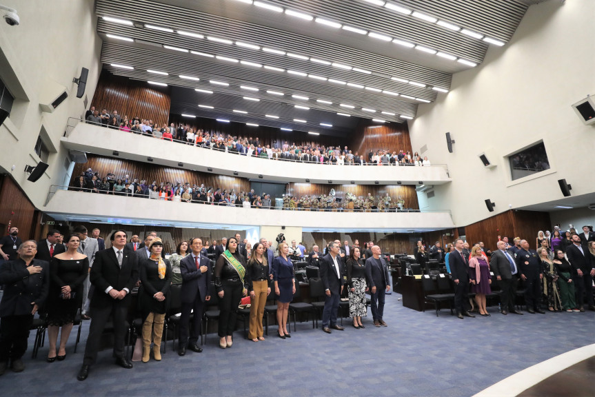
[[[31,314],[31,302],[38,307],[46,302],[50,289],[50,265],[40,259],[33,259],[31,265],[43,269],[40,273],[29,274],[21,258],[0,265],[0,285],[4,285],[0,317],[25,316]]]

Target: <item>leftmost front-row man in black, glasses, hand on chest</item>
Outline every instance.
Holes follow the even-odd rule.
[[[8,368],[25,369],[21,357],[27,350],[33,316],[48,298],[49,264],[35,259],[37,243],[21,243],[19,258],[0,265],[0,285],[5,285],[0,302],[0,375]]]

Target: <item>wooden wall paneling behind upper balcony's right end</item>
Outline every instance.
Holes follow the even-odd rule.
[[[364,154],[366,159],[370,151],[376,150],[387,150],[391,153],[410,150],[414,153],[407,123],[378,125],[372,124],[372,121],[361,121],[352,136],[350,148],[354,153],[357,151],[360,155]]]

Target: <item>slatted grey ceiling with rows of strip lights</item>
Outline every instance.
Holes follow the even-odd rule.
[[[173,114],[323,134],[403,123],[539,0],[97,0],[101,61]],[[201,106],[199,106],[201,105]]]

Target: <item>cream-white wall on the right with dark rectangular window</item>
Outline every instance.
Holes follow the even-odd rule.
[[[595,1],[531,6],[510,43],[490,45],[482,65],[454,74],[449,93],[419,105],[410,123],[412,146],[427,144],[424,155],[447,163],[452,177],[435,187],[429,208],[451,209],[454,223],[467,225],[509,205],[561,199],[558,179],[572,184],[573,196],[595,192],[595,173],[583,172],[592,163],[595,128],[570,106],[595,94],[594,16]],[[456,141],[452,154],[445,132]],[[551,172],[512,183],[504,156],[541,139]],[[481,152],[490,154],[494,169],[483,167]],[[496,212],[487,212],[485,199],[496,203]]]

